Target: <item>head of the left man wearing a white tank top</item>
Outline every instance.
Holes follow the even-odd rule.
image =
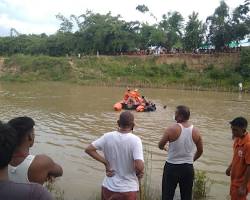
[[[35,122],[30,117],[16,117],[11,119],[8,124],[16,130],[18,144],[27,144],[30,147],[34,144],[34,125]]]

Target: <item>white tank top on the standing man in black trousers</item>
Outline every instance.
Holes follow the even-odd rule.
[[[193,164],[195,144],[192,137],[193,125],[185,128],[182,124],[181,134],[174,142],[169,143],[167,162],[172,164]]]

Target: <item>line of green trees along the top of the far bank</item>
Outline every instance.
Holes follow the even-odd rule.
[[[250,34],[250,0],[243,1],[230,10],[225,1],[215,9],[205,22],[193,12],[185,23],[181,13],[168,12],[157,20],[146,5],[138,5],[136,10],[149,14],[155,23],[125,21],[120,15],[100,14],[86,11],[80,16],[65,17],[57,14],[60,27],[55,34],[20,34],[11,29],[8,37],[0,37],[0,55],[17,53],[30,55],[93,55],[97,52],[115,55],[150,46],[161,46],[193,51],[204,46],[214,46],[215,50],[228,47],[230,42],[239,42]],[[205,47],[206,46],[206,47]]]

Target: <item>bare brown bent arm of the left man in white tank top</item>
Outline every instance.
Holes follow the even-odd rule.
[[[37,155],[28,170],[30,182],[43,184],[48,179],[62,176],[62,167],[47,155]]]

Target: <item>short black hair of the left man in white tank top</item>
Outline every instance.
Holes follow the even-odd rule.
[[[24,116],[13,118],[8,124],[16,130],[18,138],[17,145],[20,145],[23,142],[24,137],[30,134],[35,122],[32,118]]]

